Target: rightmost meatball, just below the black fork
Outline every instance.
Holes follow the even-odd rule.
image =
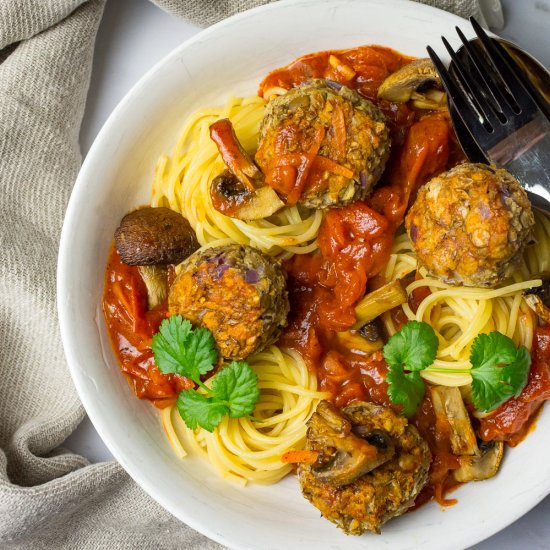
[[[418,262],[430,274],[492,287],[513,273],[535,220],[510,173],[461,164],[420,189],[405,223]]]

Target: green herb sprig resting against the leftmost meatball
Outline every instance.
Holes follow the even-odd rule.
[[[233,361],[222,368],[211,387],[202,382],[201,376],[218,361],[208,329],[193,329],[187,319],[172,315],[153,336],[152,349],[160,372],[190,378],[202,390],[182,390],[178,396],[178,411],[189,428],[201,426],[212,432],[224,416],[240,418],[254,411],[260,397],[258,377],[245,361]]]

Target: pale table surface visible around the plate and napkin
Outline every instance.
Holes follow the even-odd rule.
[[[506,27],[499,34],[517,42],[550,67],[550,0],[502,0],[502,4]],[[80,134],[84,155],[111,111],[137,80],[198,30],[147,0],[108,2],[97,37],[92,82]],[[87,417],[66,446],[92,462],[113,458]],[[503,498],[506,498],[505,490]],[[523,518],[475,548],[550,549],[549,517],[550,497],[547,497]]]

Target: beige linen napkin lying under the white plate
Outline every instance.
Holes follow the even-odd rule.
[[[0,547],[221,548],[117,463],[62,447],[84,411],[57,327],[57,248],[104,2],[0,1]],[[204,26],[264,2],[156,3]],[[477,0],[425,3],[479,15]]]

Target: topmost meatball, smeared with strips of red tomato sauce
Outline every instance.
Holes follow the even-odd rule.
[[[331,84],[314,80],[267,105],[255,160],[289,204],[328,208],[364,199],[388,159],[382,112],[355,91]]]

